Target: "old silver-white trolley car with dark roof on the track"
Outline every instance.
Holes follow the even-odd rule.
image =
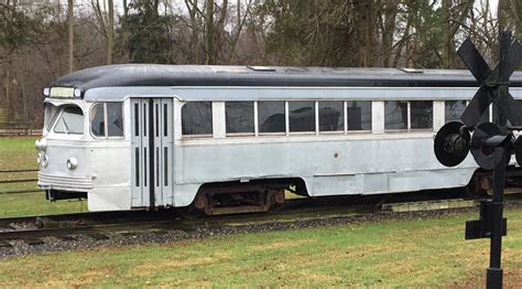
[[[521,74],[511,86],[522,98]],[[470,156],[441,165],[433,138],[476,87],[468,72],[439,69],[78,71],[44,89],[39,185],[50,200],[86,197],[90,211],[206,214],[268,211],[285,190],[327,196],[463,188],[478,165]]]

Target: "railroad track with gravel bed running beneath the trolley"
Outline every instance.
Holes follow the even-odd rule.
[[[393,215],[423,210],[469,208],[478,203],[461,199],[395,202],[379,206],[373,202],[348,205],[349,202],[354,202],[354,200],[340,197],[336,199],[334,204],[328,204],[326,199],[293,200],[276,213],[222,215],[195,220],[182,220],[173,211],[126,211],[0,218],[0,250],[10,249],[21,243],[37,246],[53,242],[53,238],[67,242],[76,240],[78,236],[88,236],[94,240],[104,240],[126,234],[132,235],[137,232],[140,234],[163,234],[172,231],[191,233],[202,227],[214,229],[296,222],[317,223],[325,220],[342,221],[358,216],[371,216],[377,215],[377,212],[381,215]],[[456,206],[456,203],[461,205]],[[508,196],[507,205],[522,206],[522,197]],[[413,210],[404,210],[404,206]],[[400,210],[393,207],[400,207]],[[52,239],[50,240],[48,237]]]

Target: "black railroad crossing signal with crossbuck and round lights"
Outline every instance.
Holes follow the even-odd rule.
[[[500,61],[490,69],[475,45],[467,39],[457,51],[460,58],[480,84],[459,121],[446,124],[435,137],[434,150],[446,167],[463,162],[471,151],[480,168],[493,170],[493,197],[480,204],[480,218],[466,223],[466,239],[490,238],[490,266],[487,288],[502,288],[501,248],[507,234],[503,214],[505,165],[514,152],[522,165],[522,137],[516,140],[513,130],[522,130],[522,104],[509,94],[509,78],[522,62],[522,46],[512,41],[511,32],[500,34]],[[498,107],[498,125],[479,124],[491,103]],[[513,125],[507,126],[507,120]],[[470,137],[470,132],[474,132]]]

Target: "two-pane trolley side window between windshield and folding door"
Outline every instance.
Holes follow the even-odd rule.
[[[121,103],[98,103],[90,109],[93,136],[123,137],[123,111]]]

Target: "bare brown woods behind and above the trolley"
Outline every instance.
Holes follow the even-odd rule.
[[[42,89],[91,66],[464,68],[466,36],[491,63],[504,29],[518,0],[0,0],[0,122],[41,126]]]

